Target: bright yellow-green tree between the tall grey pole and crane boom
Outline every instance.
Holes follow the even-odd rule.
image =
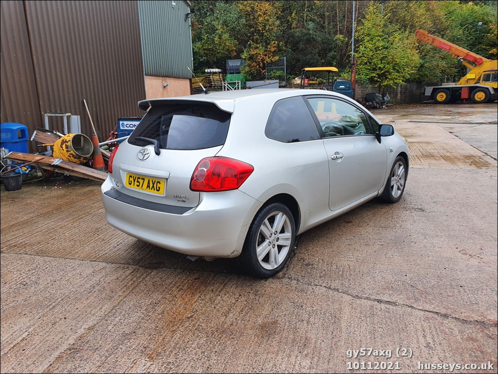
[[[379,91],[410,80],[419,64],[415,37],[389,18],[372,3],[358,27],[357,76],[363,82],[375,82]]]

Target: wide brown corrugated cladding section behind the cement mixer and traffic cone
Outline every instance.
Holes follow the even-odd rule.
[[[143,114],[137,1],[26,1],[25,8],[43,114],[79,115],[90,135],[86,99],[101,141],[119,117]]]

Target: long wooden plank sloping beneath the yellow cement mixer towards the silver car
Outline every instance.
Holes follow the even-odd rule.
[[[16,161],[36,161],[36,163],[42,169],[53,170],[64,174],[71,174],[77,177],[92,179],[99,182],[107,179],[107,173],[104,171],[95,170],[83,165],[75,164],[73,162],[64,161],[60,158],[21,152],[10,152],[6,155],[6,158],[10,158]]]

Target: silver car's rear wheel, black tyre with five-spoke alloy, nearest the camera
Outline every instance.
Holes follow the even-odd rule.
[[[296,227],[289,208],[271,203],[259,210],[249,227],[238,258],[241,269],[257,278],[269,278],[285,266],[294,249]]]

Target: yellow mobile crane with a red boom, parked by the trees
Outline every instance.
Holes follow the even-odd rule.
[[[438,104],[471,99],[474,103],[497,100],[497,60],[489,60],[458,45],[433,36],[427,31],[417,30],[417,39],[444,49],[455,56],[470,71],[457,83],[425,87],[424,96]]]

